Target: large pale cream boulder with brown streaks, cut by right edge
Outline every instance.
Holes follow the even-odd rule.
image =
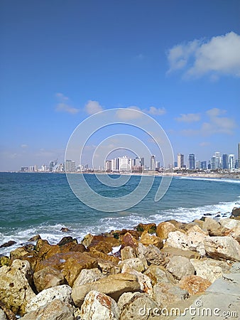
[[[204,239],[204,248],[209,257],[214,259],[224,259],[240,261],[239,242],[231,237],[209,237]]]

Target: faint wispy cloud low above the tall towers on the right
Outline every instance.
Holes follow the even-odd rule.
[[[229,117],[222,117],[225,110],[212,108],[207,110],[207,122],[203,122],[200,129],[184,129],[181,134],[185,136],[192,136],[198,134],[201,136],[210,136],[212,134],[233,134],[234,129],[237,127],[234,119]]]

